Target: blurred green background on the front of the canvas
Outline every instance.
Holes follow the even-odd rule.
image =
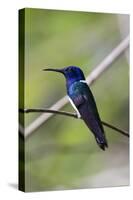
[[[43,68],[76,65],[87,76],[128,32],[128,15],[26,9],[25,108],[48,108],[66,95],[63,76]],[[125,130],[128,56],[126,51],[91,86],[101,118]],[[38,116],[25,114],[26,127]],[[82,120],[54,115],[25,141],[26,191],[128,185],[128,138],[105,132],[109,148],[103,152]]]

